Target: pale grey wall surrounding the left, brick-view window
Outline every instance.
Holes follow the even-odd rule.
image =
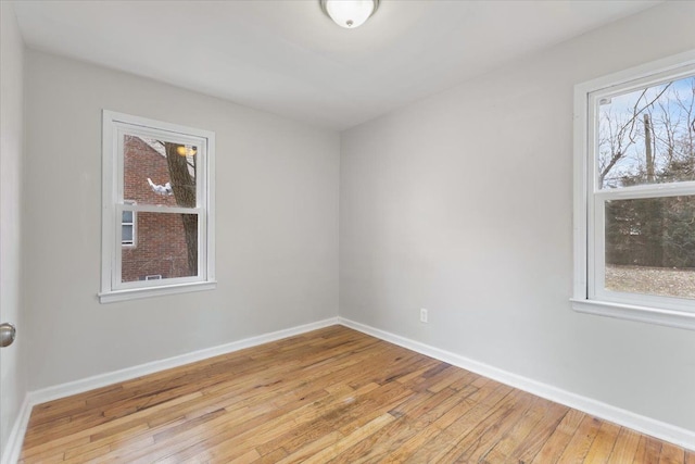
[[[216,133],[216,290],[97,301],[102,109]],[[36,51],[26,130],[30,390],[338,314],[337,133]]]

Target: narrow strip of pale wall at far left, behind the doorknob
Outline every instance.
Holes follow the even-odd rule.
[[[21,177],[24,43],[14,11],[0,2],[0,323],[18,336],[0,351],[0,454],[27,389],[26,327],[21,309]]]

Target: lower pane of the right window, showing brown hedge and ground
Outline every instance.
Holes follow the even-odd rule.
[[[695,298],[695,196],[606,202],[606,290]]]

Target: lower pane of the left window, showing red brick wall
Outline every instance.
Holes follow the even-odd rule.
[[[124,283],[198,275],[198,215],[138,212],[138,246],[121,255]]]

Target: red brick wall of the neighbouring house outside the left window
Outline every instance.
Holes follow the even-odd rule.
[[[124,149],[124,200],[176,206],[173,195],[159,195],[148,184],[148,177],[162,186],[169,181],[166,158],[135,136],[126,136]],[[138,213],[135,246],[124,246],[122,250],[123,281],[144,280],[151,275],[162,278],[190,275],[180,214]]]

